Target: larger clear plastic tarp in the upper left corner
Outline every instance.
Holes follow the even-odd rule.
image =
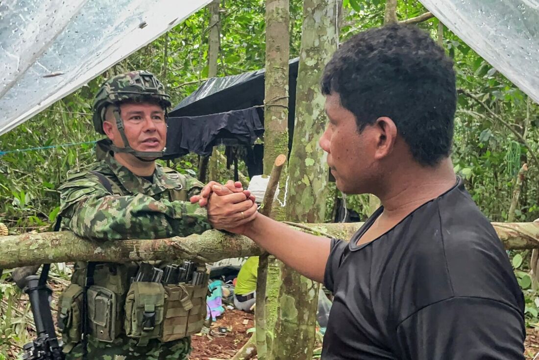
[[[0,135],[210,1],[0,1]]]

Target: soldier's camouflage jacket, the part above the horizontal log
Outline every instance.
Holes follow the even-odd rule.
[[[179,176],[186,180],[188,198],[201,191],[204,185],[191,176],[165,173],[157,165],[151,184],[110,155],[92,170],[106,176],[114,195],[91,173],[71,175],[60,187],[61,215],[68,220],[67,227],[81,237],[162,239],[200,234],[210,228],[204,208],[189,201],[170,201],[169,190],[179,187]]]

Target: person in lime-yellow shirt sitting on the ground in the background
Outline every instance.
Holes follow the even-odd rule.
[[[243,311],[251,311],[257,297],[258,256],[251,256],[239,270],[234,288],[234,306]]]

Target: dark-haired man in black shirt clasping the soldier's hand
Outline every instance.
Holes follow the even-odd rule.
[[[227,229],[333,291],[323,359],[524,358],[522,292],[453,172],[455,88],[451,60],[415,27],[351,38],[324,70],[320,146],[342,192],[382,207],[349,243],[257,213]],[[192,199],[209,214],[223,201],[211,190],[229,196],[214,185]]]

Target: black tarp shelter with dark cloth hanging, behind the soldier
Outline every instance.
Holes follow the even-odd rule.
[[[219,144],[253,145],[255,139],[264,131],[264,76],[265,69],[261,69],[211,78],[184,98],[169,113],[167,153],[164,158],[171,159],[188,152],[208,156],[211,154],[211,146]],[[288,79],[288,105],[291,110],[288,114],[288,127],[291,131],[294,126],[297,77],[298,59],[293,59],[289,62]],[[191,129],[186,128],[186,122],[191,125]],[[183,132],[178,130],[178,127],[183,127]],[[195,127],[208,131],[202,132]],[[215,128],[217,130],[214,130]],[[204,141],[201,138],[210,138],[209,132],[211,139],[205,141],[206,146],[201,146],[200,142]],[[249,132],[250,136],[244,136],[245,132]],[[193,139],[195,137],[196,140]],[[292,139],[292,136],[290,138]],[[250,175],[252,174],[251,172]]]

